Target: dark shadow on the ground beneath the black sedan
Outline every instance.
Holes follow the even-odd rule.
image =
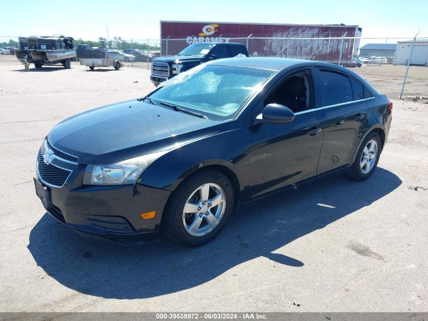
[[[327,176],[243,205],[217,238],[198,248],[165,237],[144,246],[96,242],[46,213],[31,230],[28,249],[37,265],[67,288],[103,298],[155,297],[199,286],[258,257],[303,266],[299,257],[274,252],[369,206],[401,184],[398,176],[382,168],[365,182]]]

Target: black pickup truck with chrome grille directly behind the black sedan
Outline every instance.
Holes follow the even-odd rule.
[[[192,44],[178,55],[154,58],[151,65],[150,81],[154,86],[158,86],[160,83],[201,63],[238,55],[248,57],[248,50],[245,45],[238,43]]]

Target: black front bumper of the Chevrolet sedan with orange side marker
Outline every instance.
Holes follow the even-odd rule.
[[[86,166],[67,165],[72,171],[65,183],[56,187],[43,180],[37,163],[36,193],[53,218],[80,234],[121,242],[149,240],[159,232],[171,191],[138,184],[85,186],[82,180]],[[43,197],[41,189],[45,191]],[[141,213],[150,211],[156,211],[153,219],[141,217]]]

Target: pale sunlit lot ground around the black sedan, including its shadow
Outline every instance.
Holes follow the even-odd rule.
[[[51,219],[32,183],[45,135],[145,95],[148,78],[75,63],[24,73],[0,57],[0,311],[428,310],[427,104],[394,100],[368,181],[336,175],[267,197],[199,248],[98,243]]]

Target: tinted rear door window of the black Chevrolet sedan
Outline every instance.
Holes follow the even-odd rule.
[[[320,70],[320,88],[323,107],[353,100],[351,80],[348,76]]]

